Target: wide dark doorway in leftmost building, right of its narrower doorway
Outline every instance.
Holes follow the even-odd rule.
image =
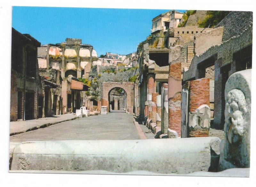
[[[27,92],[25,101],[25,120],[34,119],[34,103],[35,94]]]

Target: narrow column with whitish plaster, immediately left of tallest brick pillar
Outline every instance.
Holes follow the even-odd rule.
[[[162,117],[161,130],[162,134],[167,134],[168,130],[168,84],[164,83],[162,86]]]

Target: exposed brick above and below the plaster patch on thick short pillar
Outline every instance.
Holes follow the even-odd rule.
[[[202,78],[190,81],[189,87],[189,112],[196,112],[201,105],[210,106],[210,79]],[[189,127],[189,137],[209,136],[209,128],[196,125]]]

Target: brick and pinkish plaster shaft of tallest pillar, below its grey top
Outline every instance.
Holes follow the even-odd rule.
[[[181,63],[169,65],[168,117],[169,129],[181,136]]]

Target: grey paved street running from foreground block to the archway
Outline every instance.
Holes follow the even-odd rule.
[[[108,113],[107,115],[83,117],[10,136],[10,142],[123,139],[140,139],[131,114]]]

